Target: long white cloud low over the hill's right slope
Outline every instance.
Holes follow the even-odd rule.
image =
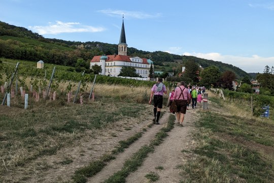
[[[234,55],[222,55],[220,53],[189,53],[185,52],[183,55],[192,55],[199,58],[212,59],[214,61],[220,61],[222,63],[231,64],[248,73],[262,73],[264,67],[274,66],[274,56],[261,57],[259,55],[252,55],[251,57],[234,56]]]

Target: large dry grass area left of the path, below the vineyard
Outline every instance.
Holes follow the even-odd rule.
[[[100,153],[100,148],[110,139],[124,138],[121,134],[132,134],[136,131],[135,128],[147,126],[137,127],[137,124],[152,114],[151,106],[140,104],[148,101],[149,92],[148,87],[97,84],[95,102],[84,101],[84,105],[67,104],[65,94],[59,91],[57,101],[35,102],[30,97],[28,110],[23,109],[20,97],[12,99],[11,108],[0,106],[0,157],[4,160],[0,163],[0,175],[6,181],[15,176],[18,181],[29,179],[31,176],[27,174],[31,170],[39,172],[55,166],[50,161],[43,160],[44,157],[58,157],[57,152],[60,154],[63,149],[78,146],[80,140],[85,151]],[[0,98],[3,97],[0,94]],[[131,130],[124,131],[128,128]],[[91,139],[94,139],[95,145],[87,150]],[[115,142],[116,140],[112,143]],[[104,150],[111,151],[111,147]],[[71,153],[70,150],[66,152]],[[87,153],[79,154],[86,156]],[[67,162],[65,157],[67,156],[57,158],[58,162]],[[16,173],[18,170],[26,175],[23,179],[19,172]]]

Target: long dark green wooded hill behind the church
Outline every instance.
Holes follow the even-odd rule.
[[[155,65],[162,66],[166,62],[176,62],[178,60],[195,60],[203,68],[208,66],[218,66],[223,72],[231,70],[238,77],[248,75],[245,71],[232,65],[215,62],[214,60],[202,59],[194,56],[182,56],[169,54],[163,51],[143,51],[136,48],[128,47],[128,55],[140,56],[153,60]],[[75,42],[64,41],[59,39],[48,39],[43,36],[32,33],[24,27],[10,25],[0,21],[0,57],[12,59],[24,59],[37,62],[44,60],[47,63],[53,63],[65,66],[75,66],[78,58],[89,60],[95,55],[118,54],[117,44],[101,42]]]

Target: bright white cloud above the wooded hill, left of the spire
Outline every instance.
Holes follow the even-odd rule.
[[[56,23],[49,22],[47,26],[29,26],[33,32],[38,34],[60,34],[60,33],[83,33],[83,32],[102,32],[105,31],[104,27],[93,27],[88,25],[81,25],[79,22],[62,22],[56,21]]]

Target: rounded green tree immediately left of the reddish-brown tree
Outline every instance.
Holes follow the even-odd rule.
[[[199,85],[203,85],[208,88],[210,88],[212,85],[214,87],[219,86],[221,75],[221,71],[218,67],[207,67],[201,72],[201,80],[199,82]]]

